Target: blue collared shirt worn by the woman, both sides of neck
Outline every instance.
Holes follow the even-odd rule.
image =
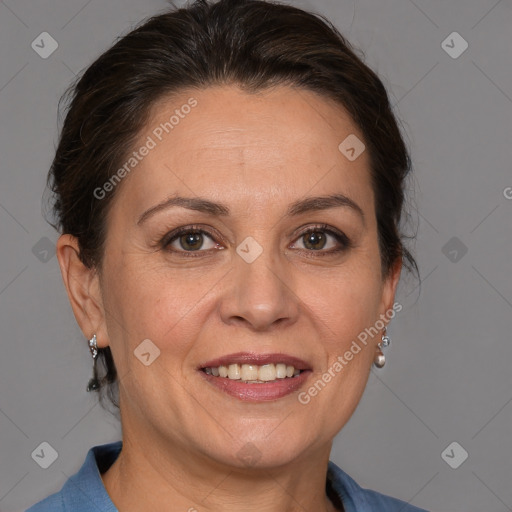
[[[101,473],[117,459],[122,441],[94,446],[80,470],[62,489],[30,507],[26,512],[118,512],[112,503]],[[427,512],[404,501],[361,488],[336,464],[329,461],[327,489],[334,505],[343,503],[345,512]]]

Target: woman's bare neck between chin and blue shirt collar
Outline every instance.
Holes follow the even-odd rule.
[[[279,468],[256,469],[224,466],[154,439],[125,432],[118,459],[102,475],[120,512],[336,511],[325,491],[330,446]]]

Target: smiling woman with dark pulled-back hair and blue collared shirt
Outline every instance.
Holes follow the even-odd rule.
[[[30,511],[419,511],[329,461],[416,268],[378,77],[323,18],[202,0],[72,93],[58,260],[123,434]]]

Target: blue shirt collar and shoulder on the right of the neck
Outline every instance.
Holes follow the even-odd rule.
[[[329,461],[327,478],[346,512],[427,512],[398,498],[362,488],[332,461]]]

